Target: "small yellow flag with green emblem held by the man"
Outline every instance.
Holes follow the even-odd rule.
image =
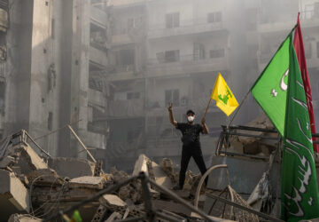
[[[214,84],[211,98],[216,100],[216,106],[222,109],[226,115],[231,115],[232,112],[238,107],[235,96],[230,91],[222,75],[219,73]]]

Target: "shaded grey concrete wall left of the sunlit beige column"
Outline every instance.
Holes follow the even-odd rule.
[[[33,1],[12,0],[10,4],[10,28],[6,36],[4,136],[29,127]]]

